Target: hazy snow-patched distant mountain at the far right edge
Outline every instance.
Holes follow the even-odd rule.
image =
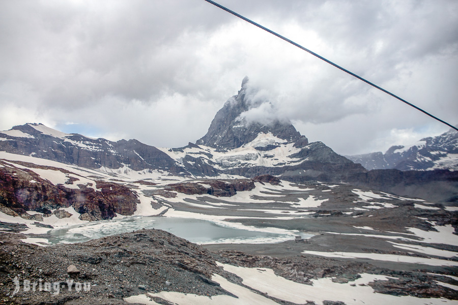
[[[423,138],[413,145],[392,146],[385,154],[379,151],[347,158],[368,170],[458,170],[458,132],[450,129],[440,136]]]

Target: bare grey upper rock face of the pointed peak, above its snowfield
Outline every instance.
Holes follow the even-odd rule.
[[[261,123],[248,124],[240,115],[253,108],[246,95],[248,78],[242,82],[242,88],[238,94],[229,99],[215,115],[210,128],[205,136],[197,140],[197,144],[203,144],[215,148],[237,148],[254,140],[260,133],[272,133],[274,136],[287,142],[301,141],[301,145],[308,143],[307,138],[294,128],[290,122],[276,120],[270,125]]]

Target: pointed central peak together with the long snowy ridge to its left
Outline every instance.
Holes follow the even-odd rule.
[[[268,103],[249,100],[247,85],[245,78],[238,95],[216,113],[208,133],[185,147],[92,139],[42,124],[25,124],[0,132],[0,150],[108,172],[161,171],[190,177],[272,174],[294,181],[341,181],[366,172],[322,142],[309,143],[289,121],[247,122],[246,111]]]

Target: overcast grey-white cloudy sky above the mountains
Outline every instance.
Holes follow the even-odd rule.
[[[458,1],[219,3],[458,124]],[[0,130],[42,123],[180,147],[245,76],[275,115],[339,154],[448,130],[203,0],[0,2]]]

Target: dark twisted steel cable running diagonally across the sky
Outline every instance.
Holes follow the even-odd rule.
[[[205,0],[205,1],[208,2],[208,3],[210,3],[210,4],[213,4],[214,6],[220,8],[220,9],[222,9],[222,10],[224,10],[224,11],[230,13],[230,14],[233,14],[233,15],[236,16],[236,17],[239,17],[239,18],[242,19],[242,20],[245,20],[245,21],[248,22],[248,23],[251,23],[252,25],[255,25],[255,26],[259,27],[259,28],[264,29],[264,31],[266,31],[266,32],[268,32],[268,33],[270,33],[270,34],[272,34],[272,35],[274,35],[274,36],[276,36],[276,37],[278,37],[278,38],[280,38],[280,39],[286,41],[286,42],[291,43],[292,45],[294,45],[294,46],[296,46],[296,47],[298,47],[298,48],[300,48],[300,49],[302,49],[302,50],[304,50],[304,51],[306,51],[306,52],[312,54],[313,56],[316,56],[316,57],[320,58],[321,60],[323,60],[324,62],[326,62],[326,63],[328,63],[328,64],[330,64],[330,65],[332,65],[332,66],[334,66],[335,68],[337,68],[337,69],[339,69],[339,70],[342,70],[342,71],[344,71],[344,72],[350,74],[351,76],[356,77],[356,78],[359,79],[359,80],[362,80],[363,82],[365,82],[365,83],[367,83],[367,84],[369,84],[369,85],[371,85],[371,86],[373,86],[373,87],[375,87],[375,88],[377,88],[377,89],[383,91],[384,93],[386,93],[386,94],[392,96],[393,98],[398,99],[399,101],[401,101],[401,102],[403,102],[403,103],[406,103],[407,105],[409,105],[409,106],[411,106],[411,107],[417,109],[418,111],[421,111],[421,112],[423,112],[424,114],[426,114],[426,115],[428,115],[428,116],[431,116],[432,118],[434,118],[434,119],[440,121],[441,123],[447,125],[448,127],[451,127],[451,128],[453,128],[454,130],[458,131],[458,128],[454,127],[454,126],[451,125],[451,124],[448,124],[446,121],[444,121],[444,120],[438,118],[437,116],[434,116],[433,114],[431,114],[431,113],[429,113],[429,112],[427,112],[427,111],[421,109],[420,107],[417,107],[417,106],[415,106],[414,104],[409,103],[408,101],[406,101],[406,100],[404,100],[404,99],[398,97],[397,95],[392,94],[392,93],[389,92],[388,90],[385,90],[384,88],[382,88],[382,87],[380,87],[380,86],[378,86],[378,85],[376,85],[376,84],[374,84],[374,83],[372,83],[372,82],[370,82],[370,81],[368,81],[368,80],[362,78],[361,76],[359,76],[359,75],[357,75],[357,74],[355,74],[355,73],[353,73],[353,72],[351,72],[351,71],[349,71],[349,70],[347,70],[347,69],[345,69],[345,68],[342,68],[342,67],[340,67],[340,66],[337,65],[337,64],[334,64],[333,62],[331,62],[331,60],[328,60],[328,59],[324,58],[323,56],[320,56],[320,55],[318,55],[317,53],[312,52],[312,51],[310,51],[309,49],[307,49],[307,48],[301,46],[300,44],[297,44],[297,43],[295,43],[294,41],[292,41],[292,40],[290,40],[290,39],[288,39],[288,38],[286,38],[286,37],[284,37],[284,36],[281,36],[281,35],[278,34],[278,33],[275,33],[275,32],[273,32],[273,31],[271,31],[271,30],[268,29],[267,27],[264,27],[264,26],[262,26],[262,25],[259,24],[259,23],[256,23],[256,22],[254,22],[254,21],[252,21],[252,20],[250,20],[250,19],[248,19],[248,18],[246,18],[246,17],[243,17],[242,15],[237,14],[236,12],[234,12],[234,11],[232,11],[232,10],[226,8],[226,7],[223,7],[222,5],[220,5],[220,4],[218,4],[218,3],[214,2],[214,1],[211,1],[211,0]]]

